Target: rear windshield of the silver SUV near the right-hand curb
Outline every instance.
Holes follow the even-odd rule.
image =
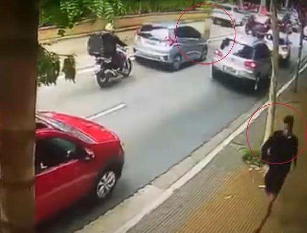
[[[232,44],[232,39],[224,39],[220,49],[229,51],[232,47]],[[254,48],[252,46],[236,42],[231,50],[231,54],[234,56],[242,57],[244,59],[252,59],[254,55]]]

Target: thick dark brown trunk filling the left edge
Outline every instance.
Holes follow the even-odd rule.
[[[1,233],[34,232],[38,1],[0,8]]]

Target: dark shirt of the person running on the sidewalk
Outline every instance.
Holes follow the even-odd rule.
[[[285,136],[282,131],[275,131],[262,146],[262,158],[271,163],[283,163],[297,155],[298,139],[295,135]],[[269,153],[268,153],[269,150]],[[294,159],[296,163],[296,158]],[[285,164],[269,164],[270,168],[277,168],[288,172],[291,162]]]

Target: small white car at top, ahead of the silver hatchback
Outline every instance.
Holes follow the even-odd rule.
[[[235,26],[237,25],[243,25],[244,20],[246,18],[245,14],[239,10],[239,8],[235,5],[231,4],[223,4],[219,5],[222,7],[227,13],[230,15],[230,17],[233,20],[233,23]],[[215,7],[212,14],[213,24],[223,24],[226,23],[230,27],[232,27],[232,22],[230,17],[221,9]]]

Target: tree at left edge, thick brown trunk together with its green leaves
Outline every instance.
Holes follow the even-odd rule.
[[[113,8],[114,7],[114,8]],[[34,232],[34,144],[37,84],[56,83],[61,54],[38,44],[39,18],[67,27],[91,12],[113,21],[120,0],[9,0],[0,8],[0,232]],[[41,14],[39,16],[39,10]],[[75,11],[76,10],[76,11]],[[62,71],[75,78],[64,55]]]

